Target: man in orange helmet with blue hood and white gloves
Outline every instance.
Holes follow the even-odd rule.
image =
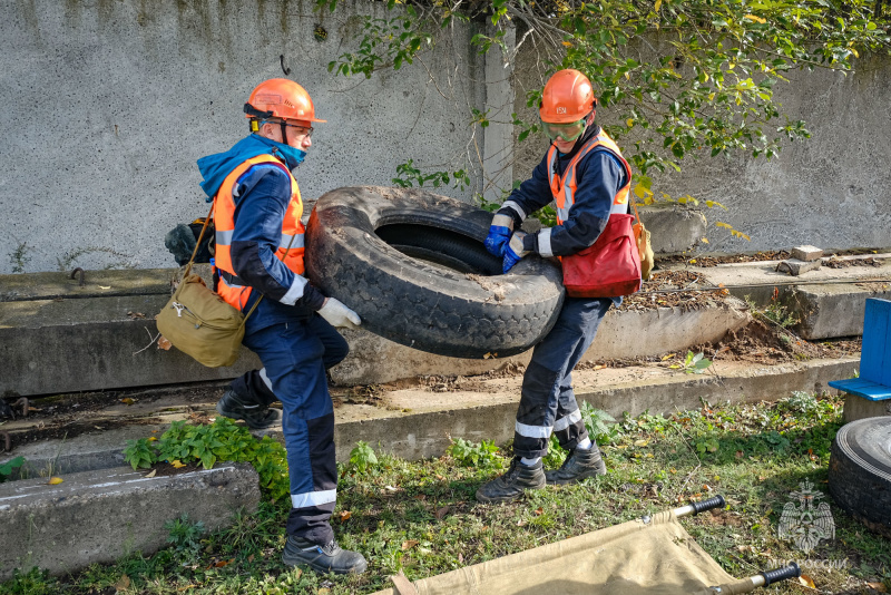
[[[244,344],[264,368],[236,379],[217,411],[265,428],[276,418],[268,406],[282,401],[292,503],[283,559],[320,573],[362,573],[365,558],[340,548],[330,524],[337,468],[325,373],[347,353],[335,328],[361,320],[304,276],[303,201],[292,173],[312,146],[313,124],[325,120],[315,117],[306,90],[287,79],[261,82],[244,111],[251,134],[198,159],[198,169],[214,202],[215,290],[249,313]]]

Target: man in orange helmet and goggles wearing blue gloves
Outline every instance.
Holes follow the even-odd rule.
[[[597,99],[578,70],[556,72],[541,96],[539,116],[550,147],[532,177],[515,189],[492,217],[486,247],[508,272],[527,254],[566,256],[591,246],[613,213],[628,213],[631,170],[621,152],[595,124]],[[555,201],[557,226],[520,231],[530,213]],[[606,472],[572,392],[572,369],[594,341],[607,310],[620,299],[566,298],[554,329],[532,351],[523,374],[508,471],[484,484],[477,499],[509,501],[526,489],[571,484]],[[562,466],[545,471],[554,433],[569,451]]]

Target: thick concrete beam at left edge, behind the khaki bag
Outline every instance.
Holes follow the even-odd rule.
[[[234,378],[260,368],[247,349],[231,368],[205,368],[175,349],[157,349],[154,315],[167,300],[130,295],[0,302],[0,394],[174,384]]]

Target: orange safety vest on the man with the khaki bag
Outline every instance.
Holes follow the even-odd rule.
[[[225,276],[221,275],[216,292],[227,304],[238,310],[244,309],[247,303],[247,299],[251,296],[251,287],[236,282],[237,275],[232,266],[232,235],[235,231],[235,197],[233,193],[235,184],[242,177],[242,174],[258,164],[276,165],[287,173],[287,177],[291,179],[291,202],[287,204],[287,209],[282,221],[282,237],[278,240],[278,248],[275,251],[275,256],[298,275],[302,275],[305,271],[303,252],[306,228],[300,221],[303,215],[303,201],[300,197],[297,181],[294,179],[287,167],[272,155],[252,157],[226,176],[216,196],[214,196],[214,225],[216,226],[216,253],[214,260],[217,269],[235,277],[235,280],[229,279],[229,281],[226,281]],[[288,245],[291,246],[290,250]]]

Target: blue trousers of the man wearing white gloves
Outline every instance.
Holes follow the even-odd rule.
[[[282,401],[291,478],[287,534],[325,545],[334,538],[330,518],[337,497],[334,406],[325,368],[346,355],[346,341],[319,315],[260,329],[248,319],[246,326],[244,344],[264,367],[257,373]]]

